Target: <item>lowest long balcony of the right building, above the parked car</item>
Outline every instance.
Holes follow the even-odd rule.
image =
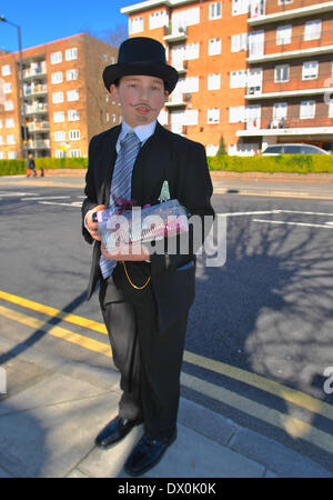
[[[321,124],[319,126],[319,122]],[[333,134],[333,119],[322,117],[322,119],[300,119],[300,118],[275,118],[270,120],[250,119],[243,123],[243,128],[236,131],[236,137],[285,137],[287,139],[305,138],[311,139]]]

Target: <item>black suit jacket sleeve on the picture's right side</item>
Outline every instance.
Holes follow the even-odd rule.
[[[189,252],[182,253],[182,246],[180,244],[180,237],[175,237],[176,241],[172,242],[172,248],[176,248],[175,254],[153,253],[151,256],[151,272],[157,274],[167,270],[168,264],[170,269],[175,269],[194,259],[195,252],[202,246],[205,237],[210,232],[214,219],[214,210],[211,206],[211,196],[213,187],[208,169],[206,156],[204,147],[198,142],[188,141],[188,148],[178,156],[178,200],[184,206],[190,217],[190,232],[189,232]],[[194,224],[191,223],[191,218],[201,221],[200,234],[195,232]],[[193,221],[192,219],[192,221]],[[194,231],[194,232],[193,232]],[[195,236],[195,237],[193,237]],[[168,259],[168,260],[167,260]]]

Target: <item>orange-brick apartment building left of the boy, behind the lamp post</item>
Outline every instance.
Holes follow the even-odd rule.
[[[120,121],[102,82],[118,50],[80,33],[22,51],[23,100],[19,53],[0,53],[0,159],[24,158],[22,101],[28,151],[34,157],[84,157],[95,133]]]

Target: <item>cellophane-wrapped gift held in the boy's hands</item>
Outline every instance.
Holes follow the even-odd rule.
[[[98,227],[102,243],[112,251],[121,244],[144,243],[188,232],[188,217],[189,212],[178,200],[169,200],[145,208],[134,207],[120,214],[101,214]]]

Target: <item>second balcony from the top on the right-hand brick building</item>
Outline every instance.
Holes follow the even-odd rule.
[[[262,63],[270,61],[284,61],[304,57],[314,57],[332,53],[333,30],[320,33],[312,40],[304,37],[293,37],[289,43],[276,44],[276,38],[264,40],[264,42],[250,42],[248,51],[249,63]]]

